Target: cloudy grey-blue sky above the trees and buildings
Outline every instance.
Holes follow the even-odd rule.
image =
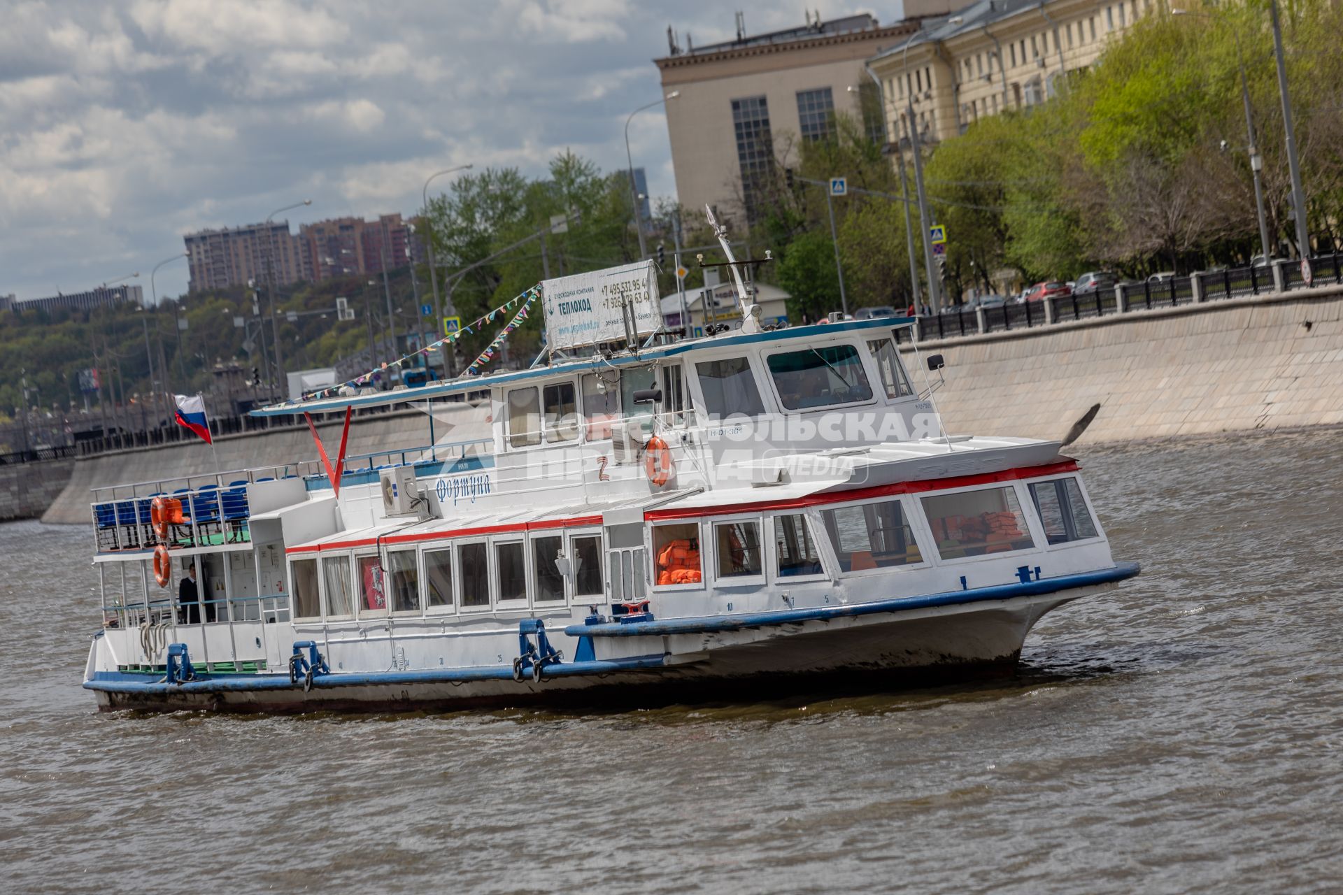
[[[0,0],[0,294],[79,291],[149,270],[181,235],[414,212],[431,172],[545,170],[571,148],[624,165],[630,110],[659,94],[666,28],[696,46],[900,0]],[[630,129],[676,192],[666,121]],[[446,178],[435,181],[445,187]],[[158,297],[187,288],[165,264]]]

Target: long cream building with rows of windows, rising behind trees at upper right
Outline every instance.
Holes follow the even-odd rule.
[[[1069,72],[1091,66],[1105,43],[1154,8],[1151,0],[980,0],[870,60],[881,79],[888,134],[955,137],[978,118],[1052,97]]]

